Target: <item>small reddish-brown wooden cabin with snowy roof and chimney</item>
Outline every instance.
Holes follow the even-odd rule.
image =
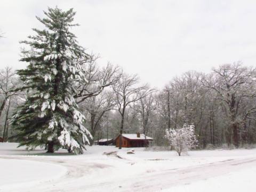
[[[123,134],[122,135],[122,147],[146,147],[149,145],[149,141],[153,141],[153,138],[146,136],[145,134]],[[115,139],[116,147],[119,147],[119,137]]]

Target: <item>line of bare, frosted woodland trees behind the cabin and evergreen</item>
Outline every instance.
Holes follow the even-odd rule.
[[[21,82],[11,68],[2,69],[0,77],[1,137],[15,141],[10,119],[25,97],[13,91]],[[87,64],[87,77],[85,99],[77,102],[93,140],[115,138],[120,131],[141,132],[162,146],[167,144],[166,129],[186,123],[195,125],[202,148],[256,142],[255,68],[237,62],[214,68],[210,74],[188,71],[162,90],[140,85],[137,75],[127,75],[119,67],[100,69],[95,60]]]

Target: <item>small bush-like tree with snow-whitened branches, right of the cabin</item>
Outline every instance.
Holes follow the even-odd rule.
[[[182,128],[166,129],[165,137],[170,141],[170,145],[177,153],[186,153],[189,149],[197,146],[195,126],[184,124]]]

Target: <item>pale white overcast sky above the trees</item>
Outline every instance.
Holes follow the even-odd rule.
[[[256,1],[5,1],[0,3],[0,68],[25,68],[19,41],[42,28],[35,15],[58,5],[77,12],[73,29],[99,53],[142,82],[161,88],[188,70],[208,73],[223,63],[256,66]]]

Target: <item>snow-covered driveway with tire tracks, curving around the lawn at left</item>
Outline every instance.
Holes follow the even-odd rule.
[[[67,173],[56,180],[41,183],[41,185],[30,188],[9,189],[8,191],[161,191],[175,185],[188,185],[193,181],[205,180],[229,172],[242,170],[250,166],[256,166],[256,157],[227,159],[210,164],[190,166],[180,169],[166,169],[162,171],[152,171],[143,174],[135,174],[127,179],[123,177],[122,166],[116,169],[110,165],[113,161],[123,163],[126,167],[130,163],[127,159],[115,159],[111,157],[105,164],[90,161],[89,159],[71,158],[38,158],[26,156],[0,156],[0,158],[26,159],[29,161],[39,161],[54,163],[65,166]],[[102,162],[102,161],[101,161]],[[130,166],[130,169],[133,169]],[[109,175],[109,177],[108,177]],[[110,177],[116,175],[115,179]],[[21,186],[22,187],[22,186]],[[1,192],[4,190],[0,190]]]

